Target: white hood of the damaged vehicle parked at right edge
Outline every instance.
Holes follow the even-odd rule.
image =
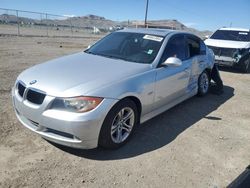
[[[205,44],[208,46],[215,46],[220,48],[250,48],[250,42],[232,40],[207,39],[205,40]]]

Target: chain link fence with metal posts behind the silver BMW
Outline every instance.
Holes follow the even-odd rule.
[[[116,22],[94,15],[69,17],[0,8],[0,35],[85,37],[117,27]]]

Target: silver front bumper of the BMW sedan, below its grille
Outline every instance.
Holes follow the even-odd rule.
[[[43,103],[37,105],[23,99],[15,87],[12,89],[12,100],[16,116],[25,127],[51,142],[82,149],[98,146],[102,123],[117,102],[115,99],[104,99],[90,112],[66,112],[49,109],[54,100],[52,96],[47,95]]]

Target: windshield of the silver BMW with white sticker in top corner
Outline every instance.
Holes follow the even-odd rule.
[[[150,64],[154,61],[163,37],[142,33],[114,32],[86,50],[86,53]]]

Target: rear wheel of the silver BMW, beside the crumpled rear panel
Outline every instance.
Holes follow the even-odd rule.
[[[210,87],[210,79],[207,71],[203,71],[198,79],[198,96],[204,96],[208,93]]]

